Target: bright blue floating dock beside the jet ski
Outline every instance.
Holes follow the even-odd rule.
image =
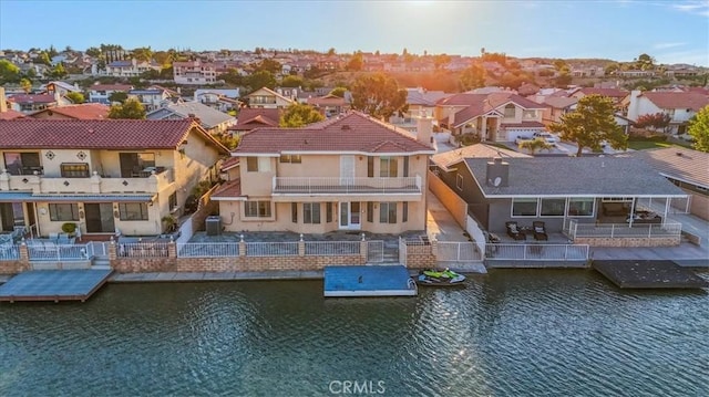
[[[415,296],[418,289],[403,265],[325,268],[325,296]]]

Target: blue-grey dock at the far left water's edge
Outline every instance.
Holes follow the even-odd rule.
[[[0,285],[0,302],[85,302],[111,276],[112,270],[32,270]]]

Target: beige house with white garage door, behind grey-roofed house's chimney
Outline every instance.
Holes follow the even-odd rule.
[[[541,105],[510,92],[456,94],[435,106],[439,125],[453,135],[474,134],[482,140],[514,142],[545,129]]]

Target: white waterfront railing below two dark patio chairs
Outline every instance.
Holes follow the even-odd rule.
[[[587,244],[500,244],[485,245],[485,259],[507,261],[586,261]]]

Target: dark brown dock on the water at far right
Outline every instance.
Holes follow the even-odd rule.
[[[621,289],[701,289],[709,282],[668,260],[594,261],[593,268]]]

